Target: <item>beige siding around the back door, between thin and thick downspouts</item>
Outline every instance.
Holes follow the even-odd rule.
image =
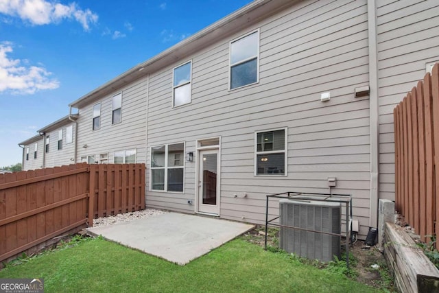
[[[287,10],[189,56],[191,104],[172,108],[172,68],[150,78],[150,147],[221,137],[220,217],[262,224],[265,195],[285,191],[352,194],[354,218],[367,234],[369,215],[369,100],[366,1],[300,1]],[[259,83],[228,91],[229,41],[260,30]],[[330,91],[331,100],[320,102]],[[254,176],[254,132],[287,127],[287,176]],[[150,191],[148,207],[193,213],[194,162],[185,163],[185,191]],[[248,196],[242,198],[246,193]],[[238,197],[235,198],[234,194]],[[277,207],[270,208],[272,215]]]

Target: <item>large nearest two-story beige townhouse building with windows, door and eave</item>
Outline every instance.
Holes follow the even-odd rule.
[[[266,194],[335,177],[366,235],[394,200],[393,108],[439,60],[438,23],[436,0],[253,1],[71,103],[75,161],[135,150],[147,207],[259,224]]]

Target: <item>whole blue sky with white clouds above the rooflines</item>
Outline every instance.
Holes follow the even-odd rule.
[[[250,0],[0,0],[0,167],[68,104]]]

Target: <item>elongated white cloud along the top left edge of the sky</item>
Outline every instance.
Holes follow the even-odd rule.
[[[90,25],[97,23],[98,16],[91,10],[82,10],[73,2],[64,5],[47,0],[0,0],[0,13],[19,17],[32,25],[47,25],[59,23],[63,19],[75,19],[84,30],[90,30]]]

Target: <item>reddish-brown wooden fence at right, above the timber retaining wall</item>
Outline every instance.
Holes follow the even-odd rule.
[[[396,209],[425,241],[426,236],[439,235],[438,64],[393,113]]]

